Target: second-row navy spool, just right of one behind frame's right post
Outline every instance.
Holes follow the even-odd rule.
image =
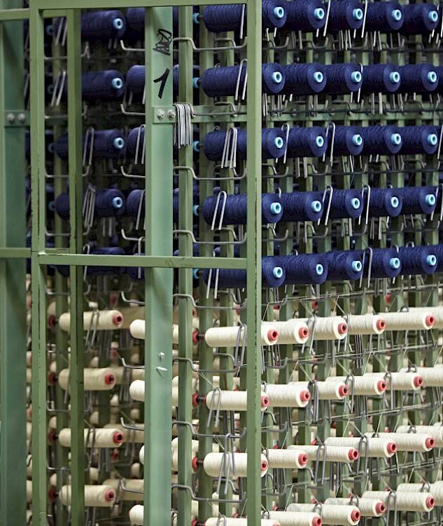
[[[326,72],[322,64],[288,64],[283,66],[286,95],[315,95],[326,86]]]

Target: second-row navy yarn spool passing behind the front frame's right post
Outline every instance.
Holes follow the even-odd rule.
[[[211,67],[199,79],[200,86],[208,97],[235,95],[240,66]],[[246,65],[241,66],[239,90],[244,86]],[[280,93],[285,84],[283,67],[276,62],[262,65],[262,92],[268,95]]]

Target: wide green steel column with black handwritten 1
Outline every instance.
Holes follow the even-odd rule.
[[[153,108],[172,102],[172,45],[155,50],[160,29],[172,33],[171,8],[146,9],[146,255],[171,256],[172,123],[153,124]],[[146,526],[171,523],[172,281],[172,269],[145,269]]]

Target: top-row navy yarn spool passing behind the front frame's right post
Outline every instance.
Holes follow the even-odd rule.
[[[283,27],[286,22],[286,1],[262,0],[262,27],[274,29]],[[241,27],[241,4],[206,6],[203,11],[203,22],[208,31],[220,33],[239,31]],[[244,27],[246,27],[247,8],[245,8]]]

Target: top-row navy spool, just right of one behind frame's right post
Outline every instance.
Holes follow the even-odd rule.
[[[292,0],[286,2],[286,25],[290,31],[316,31],[326,22],[325,4],[321,0]]]

